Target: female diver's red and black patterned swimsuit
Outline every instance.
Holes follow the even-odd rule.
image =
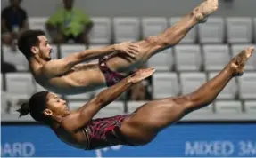
[[[125,138],[120,131],[121,122],[129,116],[130,115],[116,115],[95,119],[89,122],[83,129],[87,137],[86,150],[116,145],[134,146],[128,143],[127,138]]]

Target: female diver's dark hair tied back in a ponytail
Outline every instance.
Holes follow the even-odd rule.
[[[28,103],[23,103],[21,108],[17,110],[22,115],[30,115],[37,122],[45,122],[45,124],[51,124],[51,119],[44,115],[44,110],[46,109],[47,95],[49,91],[40,91],[35,93]]]

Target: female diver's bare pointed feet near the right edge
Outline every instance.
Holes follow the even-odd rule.
[[[254,47],[244,49],[230,61],[230,66],[234,69],[234,76],[243,75],[245,64],[252,56],[253,51]]]

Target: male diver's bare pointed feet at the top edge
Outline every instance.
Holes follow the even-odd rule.
[[[195,19],[200,23],[206,22],[207,17],[216,12],[219,6],[219,0],[205,0],[194,9]]]

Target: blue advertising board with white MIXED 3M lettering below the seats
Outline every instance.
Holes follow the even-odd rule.
[[[33,157],[237,157],[256,156],[256,123],[176,124],[146,146],[112,146],[85,151],[65,145],[41,125],[2,126],[2,156]]]

